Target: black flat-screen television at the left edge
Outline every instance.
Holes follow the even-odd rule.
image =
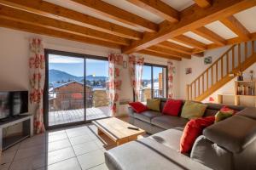
[[[0,92],[0,119],[19,116],[28,111],[28,92]]]

